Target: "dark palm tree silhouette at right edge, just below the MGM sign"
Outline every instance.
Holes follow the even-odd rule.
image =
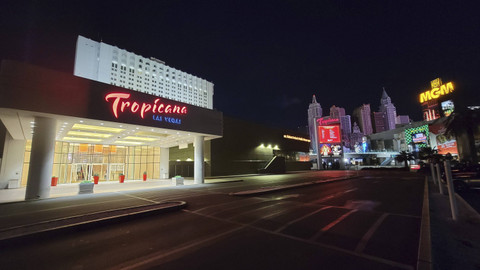
[[[474,133],[478,126],[480,126],[480,109],[459,107],[455,108],[455,111],[447,118],[445,131],[445,134],[456,137],[462,159],[475,164],[478,162],[478,157]]]

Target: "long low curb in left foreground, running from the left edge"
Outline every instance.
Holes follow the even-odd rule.
[[[167,213],[185,208],[184,201],[161,202],[157,204],[126,207],[100,211],[84,215],[53,219],[28,225],[0,230],[0,243],[22,241],[27,237],[48,237],[55,234],[96,228],[118,221],[128,221],[133,217],[148,216],[154,213]],[[7,243],[8,245],[8,243]]]

